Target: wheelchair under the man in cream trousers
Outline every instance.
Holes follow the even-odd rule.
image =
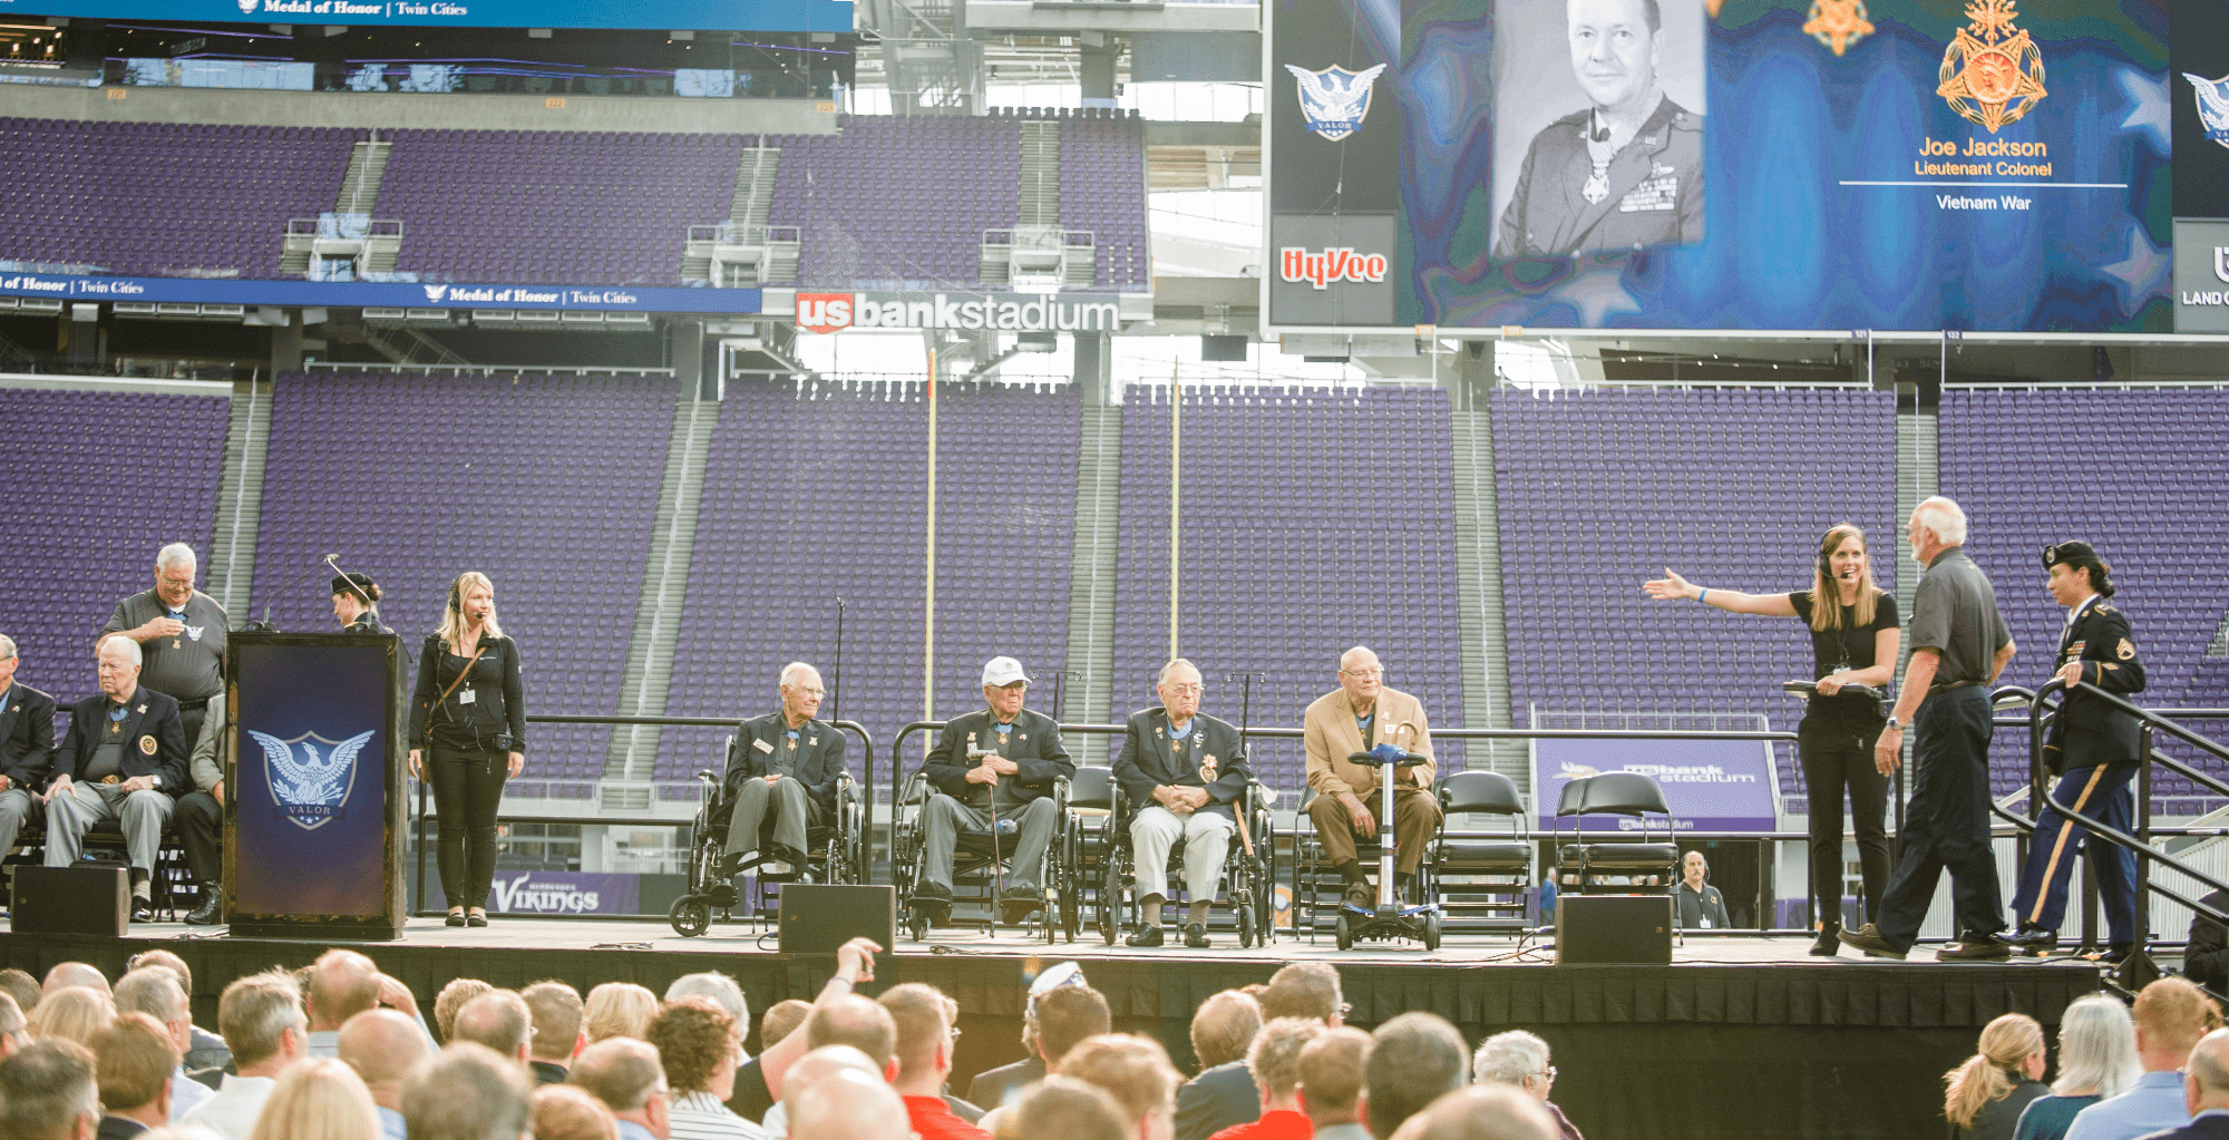
[[[1135,926],[1139,917],[1137,857],[1130,839],[1130,815],[1143,804],[1128,802],[1121,793],[1121,784],[1114,784],[1112,770],[1106,773],[1108,815],[1103,822],[1103,842],[1099,844],[1099,851],[1094,851],[1097,857],[1088,859],[1088,871],[1097,873],[1094,911],[1099,917],[1099,937],[1112,946],[1114,940]],[[1268,806],[1271,793],[1259,779],[1248,779],[1246,795],[1233,804],[1239,831],[1230,835],[1230,851],[1224,855],[1221,893],[1230,900],[1242,949],[1268,946],[1275,937],[1271,908],[1275,906],[1277,844],[1271,831]],[[1081,862],[1086,859],[1079,859],[1079,864]],[[1184,895],[1181,837],[1168,851],[1168,879],[1175,893]],[[1170,897],[1161,913],[1175,915],[1179,913],[1177,908],[1177,897]],[[1164,917],[1164,922],[1170,920]],[[1181,917],[1175,922],[1181,926]]]

